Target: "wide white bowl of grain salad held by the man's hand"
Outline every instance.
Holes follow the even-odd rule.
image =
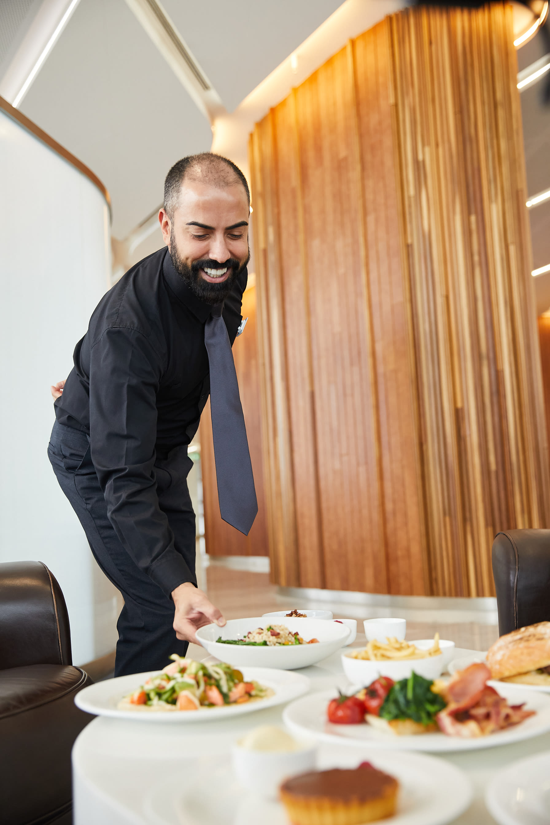
[[[292,633],[298,632],[304,641],[319,639],[314,644],[289,644],[280,647],[256,647],[253,645],[223,644],[222,639],[243,639],[249,630],[270,624],[262,616],[252,619],[231,619],[224,627],[206,625],[197,630],[197,639],[203,648],[222,662],[236,667],[280,667],[295,670],[308,667],[326,659],[331,653],[343,648],[350,639],[350,628],[322,619],[280,619],[271,624],[285,625]]]

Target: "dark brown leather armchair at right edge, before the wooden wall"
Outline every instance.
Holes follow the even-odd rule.
[[[492,547],[501,636],[550,621],[550,530],[507,530]]]

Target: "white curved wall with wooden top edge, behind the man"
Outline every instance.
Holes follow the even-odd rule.
[[[115,647],[117,592],[49,464],[49,385],[109,284],[101,192],[0,111],[0,561],[38,559],[57,577],[75,664]]]

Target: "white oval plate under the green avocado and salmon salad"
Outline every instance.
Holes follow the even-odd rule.
[[[246,702],[243,705],[224,705],[215,708],[200,708],[199,710],[127,710],[118,709],[116,705],[123,696],[137,691],[149,676],[158,671],[148,673],[134,673],[131,676],[118,676],[116,679],[98,681],[96,685],[85,687],[74,698],[75,705],[88,714],[96,716],[112,716],[115,719],[131,719],[133,722],[154,722],[174,724],[179,722],[208,722],[210,719],[228,719],[230,716],[250,714],[255,710],[263,710],[273,705],[281,705],[307,693],[309,679],[301,673],[274,670],[268,667],[243,667],[242,675],[245,681],[259,681],[261,685],[270,687],[275,695],[256,702]],[[143,707],[143,705],[136,707]]]

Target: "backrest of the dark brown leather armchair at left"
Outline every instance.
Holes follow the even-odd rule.
[[[55,577],[42,562],[0,563],[0,670],[72,663],[67,606]]]

